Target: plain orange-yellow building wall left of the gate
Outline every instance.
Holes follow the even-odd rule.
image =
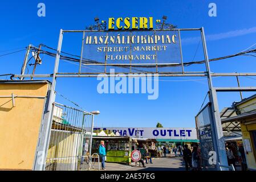
[[[46,97],[48,83],[1,84],[0,96]],[[0,169],[31,170],[45,99],[0,97]]]

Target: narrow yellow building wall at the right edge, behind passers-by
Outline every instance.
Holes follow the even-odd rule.
[[[252,152],[248,152],[246,154],[247,167],[249,169],[256,170],[256,160],[255,160],[256,151],[255,151],[255,146],[253,142],[253,136],[250,134],[250,131],[256,130],[256,124],[244,125],[243,123],[241,123],[241,130],[242,130],[242,138],[250,140],[251,150],[252,150]]]

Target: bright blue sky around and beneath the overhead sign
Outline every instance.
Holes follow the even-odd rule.
[[[37,16],[37,5],[46,5],[46,17]],[[217,5],[217,17],[208,16],[208,5]],[[0,55],[10,49],[23,48],[40,43],[56,48],[60,28],[83,30],[94,23],[94,17],[153,16],[179,28],[204,26],[209,57],[220,57],[243,51],[256,43],[256,2],[247,1],[1,1],[0,2]],[[202,48],[198,51],[196,33],[181,34],[184,61],[202,60]],[[63,40],[63,51],[78,54],[80,47],[72,43],[77,38]],[[79,40],[79,39],[78,39]],[[255,48],[255,46],[253,46]],[[253,48],[252,47],[252,48]],[[0,56],[0,75],[20,73],[25,51]],[[36,73],[52,73],[54,59],[42,56],[43,65]],[[255,57],[240,56],[210,64],[212,72],[255,72]],[[60,69],[69,69],[63,64]],[[186,68],[188,71],[204,71],[204,65]],[[32,68],[29,68],[31,73]],[[2,79],[8,77],[1,77]],[[256,78],[256,77],[254,77]],[[200,80],[197,80],[200,79]],[[97,126],[155,127],[161,122],[165,127],[194,127],[198,113],[208,90],[206,80],[195,77],[160,78],[159,99],[147,100],[145,94],[98,94],[96,78],[59,78],[56,91],[75,101],[84,109],[100,110]],[[187,81],[193,80],[193,81]],[[242,86],[254,86],[256,80],[240,78]],[[214,78],[214,86],[237,86],[235,78]],[[253,93],[243,93],[245,97]],[[239,93],[218,94],[220,109],[239,101]],[[57,97],[58,102],[72,105]]]

